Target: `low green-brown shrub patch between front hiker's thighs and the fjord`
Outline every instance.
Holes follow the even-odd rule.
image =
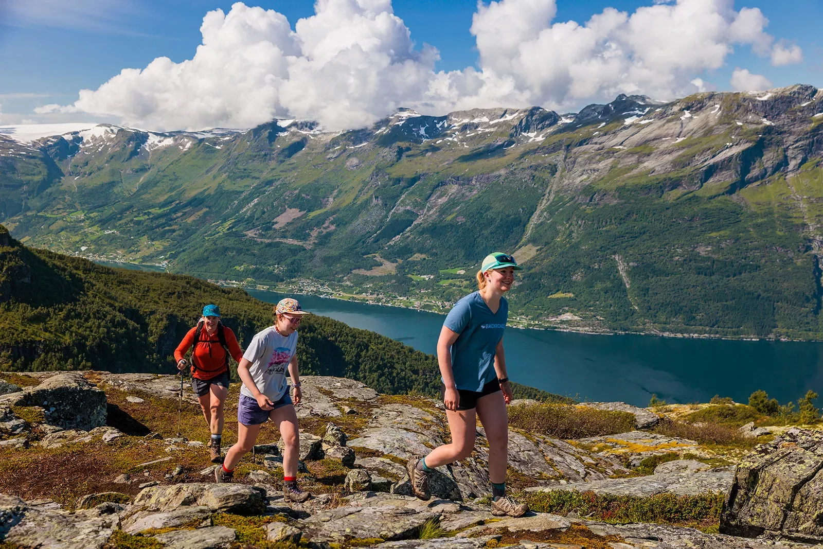
[[[509,426],[555,439],[582,439],[633,430],[635,416],[568,404],[520,404],[509,407]]]

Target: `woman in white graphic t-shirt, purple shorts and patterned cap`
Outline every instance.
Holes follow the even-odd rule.
[[[274,309],[276,321],[257,333],[237,365],[243,381],[237,406],[237,444],[226,452],[223,465],[215,469],[216,482],[231,482],[240,458],[254,446],[260,426],[268,420],[277,425],[283,437],[283,496],[286,501],[305,501],[309,492],[297,487],[297,461],[300,431],[297,412],[289,396],[286,370],[294,388],[294,403],[302,398],[297,370],[297,328],[304,314],[297,300],[280,300]]]

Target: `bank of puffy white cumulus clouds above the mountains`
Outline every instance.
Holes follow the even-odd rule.
[[[280,13],[241,2],[208,12],[193,58],[123,69],[80,91],[73,105],[41,112],[114,116],[152,129],[251,127],[275,117],[347,129],[400,106],[443,114],[570,109],[618,93],[671,99],[711,89],[699,76],[723,67],[736,46],[774,64],[802,58],[797,46],[774,44],[760,9],[735,10],[733,0],[653,0],[632,13],[607,7],[584,23],[555,21],[556,0],[478,2],[477,68],[452,72],[435,71],[438,51],[416,48],[390,0],[317,0],[314,10],[294,30]],[[741,72],[732,81],[755,77]]]

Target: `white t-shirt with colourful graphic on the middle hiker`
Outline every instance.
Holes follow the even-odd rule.
[[[258,391],[272,402],[277,402],[286,393],[286,369],[296,350],[296,332],[284,337],[277,333],[274,326],[269,326],[253,337],[243,355],[244,359],[252,363],[249,366],[249,373]],[[245,384],[240,387],[240,394],[254,398]]]

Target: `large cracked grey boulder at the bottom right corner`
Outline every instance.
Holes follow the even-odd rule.
[[[823,434],[791,429],[737,466],[720,532],[823,542]]]

